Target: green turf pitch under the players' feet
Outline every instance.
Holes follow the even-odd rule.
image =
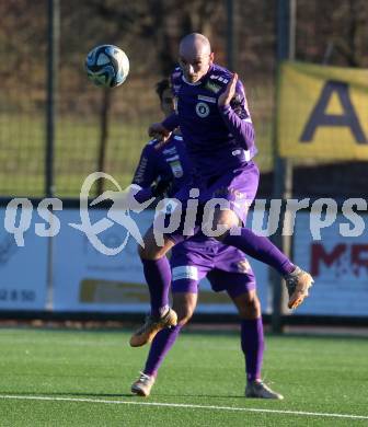
[[[245,400],[238,334],[183,333],[149,399],[130,396],[147,348],[129,332],[0,330],[1,426],[352,426],[367,419],[200,407],[231,406],[368,416],[368,343],[360,338],[267,336],[263,374],[283,402]],[[48,396],[49,401],[25,400]]]

